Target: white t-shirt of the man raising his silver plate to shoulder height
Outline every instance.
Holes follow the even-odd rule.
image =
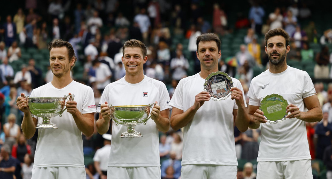
[[[237,79],[232,81],[234,87],[243,91]],[[204,83],[200,73],[180,80],[170,106],[187,111],[194,104],[196,94],[204,91]],[[230,97],[204,102],[184,127],[182,165],[237,165],[233,127],[233,109],[237,108]]]

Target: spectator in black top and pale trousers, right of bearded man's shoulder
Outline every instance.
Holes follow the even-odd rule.
[[[330,53],[328,46],[322,46],[321,51],[316,54],[315,57],[316,65],[314,68],[315,78],[329,78],[329,67]]]

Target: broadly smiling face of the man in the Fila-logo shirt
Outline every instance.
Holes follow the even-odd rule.
[[[143,74],[143,64],[146,62],[147,56],[143,56],[142,50],[139,47],[124,48],[124,56],[122,62],[126,75],[135,76]]]

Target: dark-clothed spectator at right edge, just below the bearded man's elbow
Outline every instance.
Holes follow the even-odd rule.
[[[317,135],[316,158],[323,159],[323,152],[326,147],[331,145],[332,123],[328,122],[328,111],[323,112],[323,121],[316,126]]]

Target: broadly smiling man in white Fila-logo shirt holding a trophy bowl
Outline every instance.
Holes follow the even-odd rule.
[[[123,46],[122,63],[125,76],[106,86],[97,112],[96,123],[99,134],[108,131],[113,106],[147,105],[157,102],[151,110],[151,120],[146,125],[135,127],[143,135],[141,138],[120,138],[127,131],[123,125],[112,123],[112,150],[108,160],[107,179],[160,179],[160,158],[158,130],[166,132],[170,127],[169,95],[164,83],[143,74],[143,64],[147,60],[143,42],[128,40]]]

